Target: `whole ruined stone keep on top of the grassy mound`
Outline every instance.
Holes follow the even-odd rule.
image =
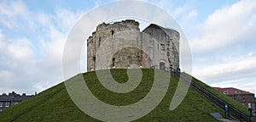
[[[87,39],[87,70],[179,68],[179,33],[154,24],[141,32],[138,26],[132,19],[97,25]]]

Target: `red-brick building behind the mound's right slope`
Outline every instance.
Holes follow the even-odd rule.
[[[219,88],[214,87],[218,92],[222,92],[224,95],[227,95],[237,102],[247,106],[248,108],[253,108],[253,111],[256,112],[255,103],[256,98],[254,94],[251,92],[245,92],[237,88],[227,87],[227,88]]]

